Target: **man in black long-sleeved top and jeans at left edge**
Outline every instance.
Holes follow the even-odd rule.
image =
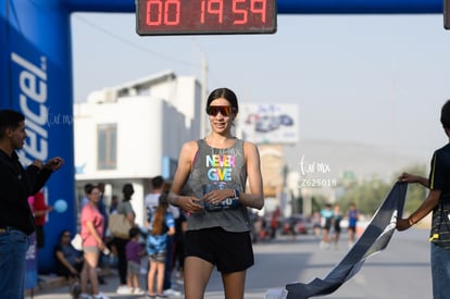
[[[52,158],[47,163],[35,160],[26,170],[15,152],[23,148],[25,116],[13,110],[0,111],[0,297],[23,299],[25,256],[35,220],[28,197],[43,187],[52,172],[64,161]]]

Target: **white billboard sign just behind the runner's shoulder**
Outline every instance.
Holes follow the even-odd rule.
[[[283,103],[239,105],[239,130],[254,144],[296,144],[299,141],[299,107]]]

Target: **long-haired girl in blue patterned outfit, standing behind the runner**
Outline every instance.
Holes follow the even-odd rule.
[[[148,273],[148,298],[166,298],[163,295],[165,256],[167,235],[175,234],[175,221],[167,210],[167,194],[161,194],[154,214],[150,215],[149,234],[147,237],[147,253],[149,254],[150,269]],[[154,278],[157,278],[157,291],[154,292]]]

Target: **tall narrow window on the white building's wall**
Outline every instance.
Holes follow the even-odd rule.
[[[98,170],[115,170],[117,166],[117,124],[101,124],[97,127]]]

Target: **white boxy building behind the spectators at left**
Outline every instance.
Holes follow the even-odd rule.
[[[132,204],[145,222],[150,179],[171,180],[179,149],[200,137],[201,86],[192,76],[167,71],[121,86],[93,91],[74,105],[77,198],[86,183],[105,183],[105,203],[122,199],[122,186],[134,185]]]

